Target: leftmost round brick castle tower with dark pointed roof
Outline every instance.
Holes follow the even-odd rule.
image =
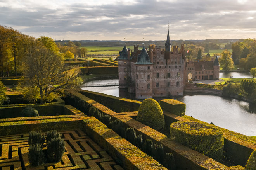
[[[127,88],[130,85],[131,69],[130,69],[130,49],[124,46],[123,50],[119,52],[118,58],[118,82],[119,88]]]

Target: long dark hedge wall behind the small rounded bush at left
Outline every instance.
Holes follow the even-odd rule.
[[[14,117],[22,117],[21,111],[26,107],[32,107],[36,109],[39,113],[39,116],[55,116],[55,115],[73,115],[74,113],[70,108],[66,105],[55,105],[55,104],[47,104],[47,105],[15,105],[8,107],[0,107],[0,119],[4,118],[14,118]]]

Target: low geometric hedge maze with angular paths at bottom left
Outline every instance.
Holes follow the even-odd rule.
[[[0,137],[0,167],[2,170],[53,170],[59,169],[92,169],[123,170],[109,156],[106,149],[101,148],[83,131],[62,131],[62,139],[66,142],[61,162],[45,163],[32,167],[28,161],[28,134]]]

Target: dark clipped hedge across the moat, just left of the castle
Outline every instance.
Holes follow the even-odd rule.
[[[118,66],[80,67],[83,74],[118,74]]]

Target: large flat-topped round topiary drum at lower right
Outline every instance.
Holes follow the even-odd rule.
[[[171,138],[216,161],[223,156],[223,132],[214,125],[199,122],[174,122],[170,125]]]

